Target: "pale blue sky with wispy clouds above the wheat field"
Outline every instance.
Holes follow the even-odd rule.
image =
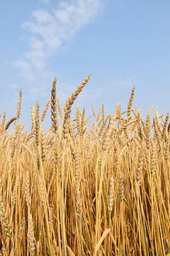
[[[21,121],[30,123],[30,108],[50,99],[57,77],[62,107],[91,73],[74,108],[104,104],[113,113],[128,105],[147,114],[152,105],[169,112],[169,0],[6,0],[0,2],[0,114],[16,114],[23,90]],[[50,116],[50,112],[49,112]],[[50,117],[47,117],[50,124]]]

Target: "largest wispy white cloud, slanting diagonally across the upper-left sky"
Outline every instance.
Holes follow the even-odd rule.
[[[27,80],[47,75],[44,70],[50,66],[50,56],[98,14],[102,3],[102,0],[61,0],[51,11],[49,8],[34,11],[22,26],[29,35],[28,50],[13,61],[20,75]]]

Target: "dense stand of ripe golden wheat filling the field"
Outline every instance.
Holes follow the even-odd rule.
[[[91,105],[90,117],[79,107],[71,117],[89,79],[62,110],[55,78],[45,110],[31,107],[30,131],[19,121],[22,92],[16,116],[1,117],[1,255],[169,253],[169,114],[151,108],[143,119],[133,87],[127,110],[119,103],[106,115]]]

